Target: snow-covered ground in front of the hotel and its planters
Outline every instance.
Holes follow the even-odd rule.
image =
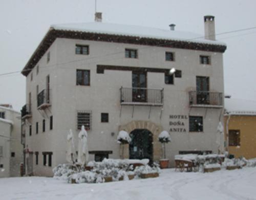
[[[158,178],[68,184],[49,177],[0,179],[0,199],[256,199],[256,168],[212,173],[162,170]]]

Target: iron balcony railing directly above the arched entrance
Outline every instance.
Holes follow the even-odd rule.
[[[121,105],[163,105],[163,88],[121,87]]]

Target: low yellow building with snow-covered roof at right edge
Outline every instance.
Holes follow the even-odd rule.
[[[256,102],[225,98],[226,150],[234,157],[256,158]]]

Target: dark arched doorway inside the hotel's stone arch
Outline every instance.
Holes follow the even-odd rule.
[[[150,159],[153,163],[153,134],[147,129],[135,129],[130,133],[130,159]]]

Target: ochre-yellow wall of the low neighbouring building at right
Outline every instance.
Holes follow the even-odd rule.
[[[225,124],[227,119],[228,116],[225,116]],[[246,159],[256,158],[256,116],[230,116],[228,130],[240,130],[240,146],[227,146],[228,152],[236,158],[241,156]],[[227,132],[225,129],[228,144]]]

